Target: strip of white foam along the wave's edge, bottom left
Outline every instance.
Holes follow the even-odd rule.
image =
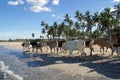
[[[0,72],[4,72],[8,76],[10,76],[13,80],[23,80],[23,77],[19,76],[18,74],[15,74],[14,71],[9,70],[9,67],[5,66],[3,61],[0,61]]]

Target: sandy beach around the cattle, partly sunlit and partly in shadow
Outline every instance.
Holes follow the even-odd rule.
[[[21,44],[21,42],[0,42],[0,46],[9,46],[13,49],[23,51]],[[120,59],[117,58],[116,55],[108,58],[110,50],[105,53],[105,55],[101,55],[98,46],[95,46],[95,50],[92,57],[88,56],[85,59],[77,57],[71,58],[70,61],[68,61],[67,58],[63,56],[61,58],[60,56],[57,56],[58,58],[52,56],[52,61],[48,61],[50,62],[49,65],[48,63],[47,65],[44,63],[43,66],[38,66],[38,68],[60,69],[73,75],[81,74],[90,77],[102,76],[112,80],[120,80],[120,71],[118,71],[120,70]],[[86,49],[86,53],[89,54],[89,49]],[[44,56],[44,58],[47,57]],[[44,58],[41,57],[41,60]]]

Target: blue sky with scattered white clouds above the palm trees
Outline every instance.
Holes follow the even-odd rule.
[[[75,12],[79,10],[91,14],[100,12],[120,0],[0,0],[0,40],[39,38],[41,21],[52,25],[55,21],[61,23],[66,13],[74,20]]]

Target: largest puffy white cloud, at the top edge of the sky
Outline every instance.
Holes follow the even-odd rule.
[[[29,9],[33,12],[51,11],[50,8],[45,6],[48,2],[49,0],[27,0],[30,5]]]

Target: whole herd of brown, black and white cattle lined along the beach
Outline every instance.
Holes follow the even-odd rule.
[[[32,51],[38,52],[40,50],[43,51],[43,48],[46,48],[47,50],[50,49],[50,53],[54,53],[57,51],[57,53],[65,53],[67,50],[69,50],[69,56],[73,55],[73,50],[78,50],[78,53],[81,55],[86,56],[85,48],[90,49],[90,55],[92,55],[92,52],[94,50],[94,45],[100,46],[100,52],[102,49],[102,53],[106,52],[107,49],[111,49],[111,55],[113,55],[114,52],[117,53],[117,55],[120,55],[120,40],[116,39],[114,41],[110,41],[109,39],[101,38],[101,39],[86,39],[86,40],[50,40],[50,41],[30,41],[30,42],[23,42],[22,46],[26,51],[29,51],[32,49]],[[54,52],[53,52],[54,49]]]

